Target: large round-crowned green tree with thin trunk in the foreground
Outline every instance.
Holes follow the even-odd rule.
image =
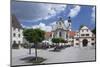
[[[23,32],[25,39],[35,46],[35,57],[37,61],[37,44],[44,40],[45,32],[41,29],[26,29]]]

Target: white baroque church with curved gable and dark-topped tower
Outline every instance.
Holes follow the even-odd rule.
[[[67,26],[65,25],[65,21],[60,18],[56,25],[53,26],[52,29],[52,38],[62,38],[64,40],[68,40],[68,31],[71,31],[71,20],[70,17],[68,19]]]

